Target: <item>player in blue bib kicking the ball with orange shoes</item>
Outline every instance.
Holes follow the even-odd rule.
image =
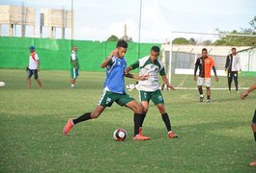
[[[148,136],[139,135],[139,125],[142,119],[142,107],[133,98],[128,96],[125,91],[125,69],[127,62],[124,56],[127,53],[128,43],[124,39],[117,42],[116,50],[112,51],[110,56],[101,63],[100,67],[106,69],[106,79],[99,104],[95,111],[85,112],[81,116],[69,119],[63,129],[63,134],[68,135],[71,128],[79,122],[98,118],[106,107],[111,107],[114,102],[120,106],[126,106],[134,111],[134,137],[135,140],[147,140]],[[130,78],[137,80],[146,80],[147,76],[134,76],[127,74]]]

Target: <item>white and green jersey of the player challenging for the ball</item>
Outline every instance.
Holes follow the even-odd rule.
[[[148,80],[139,81],[138,90],[155,91],[159,87],[158,73],[160,76],[165,76],[163,63],[158,59],[156,62],[152,62],[149,56],[134,62],[130,66],[132,69],[139,67],[139,76],[149,75]]]

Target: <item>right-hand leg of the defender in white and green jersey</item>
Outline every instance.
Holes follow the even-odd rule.
[[[171,122],[168,113],[165,111],[164,108],[164,100],[161,94],[161,91],[157,89],[152,95],[152,102],[156,105],[158,111],[161,114],[162,121],[165,124],[165,127],[168,132],[168,136],[170,138],[178,137],[174,132],[172,132]]]

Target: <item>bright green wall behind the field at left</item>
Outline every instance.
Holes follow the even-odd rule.
[[[32,37],[0,37],[0,68],[25,68],[29,60],[28,47],[34,45],[41,60],[41,69],[68,70],[70,68],[71,45],[78,47],[80,69],[102,71],[100,63],[115,48],[116,42],[48,39]],[[147,56],[153,43],[128,43],[128,64]],[[140,46],[140,53],[138,47]]]

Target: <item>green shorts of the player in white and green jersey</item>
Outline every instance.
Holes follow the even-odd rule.
[[[140,102],[147,101],[148,103],[152,100],[155,105],[164,104],[164,100],[159,89],[152,92],[139,90],[139,100]]]

